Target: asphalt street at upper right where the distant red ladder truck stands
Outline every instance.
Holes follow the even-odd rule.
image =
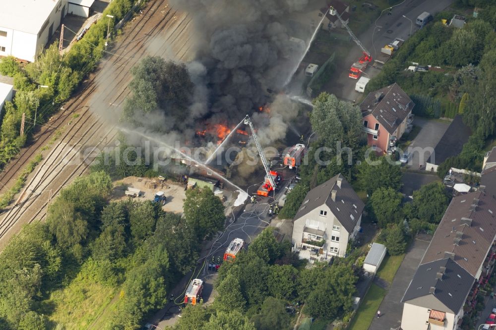
[[[375,58],[377,54],[380,54],[380,49],[395,38],[407,40],[410,35],[410,27],[412,27],[412,33],[415,33],[418,30],[415,20],[422,12],[428,11],[431,14],[435,14],[449,6],[451,2],[452,0],[405,0],[402,4],[393,8],[391,15],[388,15],[388,10],[385,10],[377,20],[377,26],[379,27],[374,29],[372,24],[372,27],[358,38],[364,47],[372,53],[372,58]],[[413,24],[410,24],[410,21],[402,15],[411,19]],[[353,45],[355,46],[354,43]],[[339,76],[328,82],[324,89],[341,99],[359,100],[362,94],[355,91],[357,81],[348,77],[348,69],[361,55],[362,51],[358,46],[352,47],[350,54],[347,56],[346,65],[341,68]],[[374,77],[379,72],[379,70],[372,67],[366,71],[369,77]]]

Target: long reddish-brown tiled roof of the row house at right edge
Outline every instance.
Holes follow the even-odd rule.
[[[421,264],[454,255],[453,260],[473,277],[496,235],[496,200],[482,191],[454,197],[437,227]],[[471,220],[470,224],[464,224]]]

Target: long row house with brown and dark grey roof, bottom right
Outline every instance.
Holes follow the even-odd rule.
[[[401,300],[401,329],[459,329],[494,268],[495,212],[483,189],[451,200]]]

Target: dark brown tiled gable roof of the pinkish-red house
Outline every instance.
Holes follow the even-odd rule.
[[[414,106],[408,95],[394,83],[369,93],[360,110],[364,117],[372,114],[392,135]]]

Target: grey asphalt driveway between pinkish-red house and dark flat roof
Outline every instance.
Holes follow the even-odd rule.
[[[420,126],[421,130],[408,146],[408,151],[412,153],[412,159],[406,166],[419,169],[419,165],[422,164],[422,168],[426,168],[427,160],[434,151],[437,142],[448,129],[450,122],[415,117],[413,124]]]

